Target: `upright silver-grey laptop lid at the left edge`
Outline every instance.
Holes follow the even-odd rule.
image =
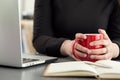
[[[0,0],[0,65],[21,63],[19,0]]]

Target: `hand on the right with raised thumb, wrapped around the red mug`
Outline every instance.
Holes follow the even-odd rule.
[[[98,32],[103,34],[103,40],[91,42],[91,46],[103,45],[103,48],[90,50],[91,59],[106,60],[116,58],[119,55],[119,47],[116,43],[113,43],[108,37],[107,33],[103,29],[99,29]],[[95,55],[94,55],[95,54]]]

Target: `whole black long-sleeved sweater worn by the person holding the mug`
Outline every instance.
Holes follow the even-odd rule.
[[[99,28],[120,45],[117,0],[35,0],[33,45],[40,53],[60,57],[64,40]]]

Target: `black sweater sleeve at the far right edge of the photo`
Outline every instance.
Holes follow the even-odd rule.
[[[113,9],[108,26],[109,37],[120,49],[120,5],[118,3]],[[120,59],[120,55],[116,59]]]

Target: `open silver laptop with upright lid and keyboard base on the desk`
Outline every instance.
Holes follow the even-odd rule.
[[[22,53],[20,0],[0,0],[0,65],[28,67],[57,57]]]

